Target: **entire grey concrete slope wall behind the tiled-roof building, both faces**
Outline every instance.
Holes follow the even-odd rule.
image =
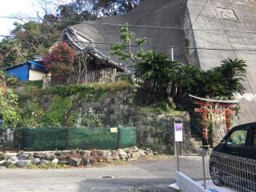
[[[84,22],[74,26],[74,29],[94,39],[96,48],[116,62],[118,58],[110,54],[109,43],[119,42],[118,26],[102,25],[104,23],[127,22],[136,25],[130,26],[130,30],[134,31],[137,38],[146,37],[147,45],[159,46],[154,47],[154,50],[171,56],[171,50],[166,46],[175,46],[174,59],[193,63],[203,70],[220,65],[223,58],[244,59],[248,65],[244,82],[246,92],[237,95],[242,103],[242,115],[235,122],[242,124],[256,120],[256,51],[245,51],[256,50],[255,18],[255,0],[144,0],[141,6],[126,15]],[[193,30],[183,30],[184,27]],[[190,47],[218,50],[187,50],[186,38]],[[138,48],[133,47],[133,50],[136,49]],[[133,71],[130,63],[122,64]]]

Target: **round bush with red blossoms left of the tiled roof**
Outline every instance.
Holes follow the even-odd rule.
[[[76,54],[66,42],[59,42],[50,54],[43,57],[43,63],[53,76],[67,77],[74,73]]]

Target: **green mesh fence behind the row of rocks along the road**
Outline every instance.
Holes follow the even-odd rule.
[[[137,144],[136,129],[124,126],[117,128],[24,128],[13,130],[13,134],[12,145],[8,141],[8,146],[23,150],[118,149]],[[4,143],[2,146],[5,146]]]

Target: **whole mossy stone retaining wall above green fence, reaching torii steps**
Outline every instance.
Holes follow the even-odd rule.
[[[137,128],[138,146],[174,154],[174,121],[181,120],[183,148],[185,152],[191,151],[189,114],[182,111],[159,114],[148,110],[146,103],[150,102],[150,93],[133,88],[106,91],[100,98],[95,95],[82,98],[81,94],[72,97],[74,106],[71,114],[78,114],[76,126],[82,126],[83,119],[90,117],[100,119],[103,127],[134,126]],[[43,100],[47,101],[44,106],[50,106],[50,97]]]

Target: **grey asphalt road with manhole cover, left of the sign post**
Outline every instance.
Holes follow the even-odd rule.
[[[132,162],[128,166],[67,170],[0,170],[0,191],[173,192],[175,159]],[[114,179],[101,179],[113,175]]]

